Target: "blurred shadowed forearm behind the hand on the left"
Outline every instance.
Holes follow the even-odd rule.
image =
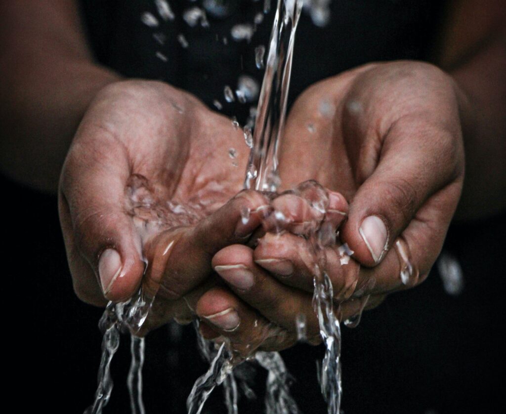
[[[117,75],[92,61],[73,2],[5,2],[0,16],[0,167],[56,191],[83,113]]]

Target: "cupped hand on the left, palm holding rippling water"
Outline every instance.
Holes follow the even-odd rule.
[[[245,242],[260,223],[252,214],[242,224],[241,210],[268,203],[254,191],[235,196],[248,152],[230,119],[187,93],[142,80],[104,88],[81,121],[60,178],[60,221],[77,296],[95,305],[118,302],[144,280],[160,304],[154,325],[190,319],[192,303],[215,283],[208,278],[213,256]]]

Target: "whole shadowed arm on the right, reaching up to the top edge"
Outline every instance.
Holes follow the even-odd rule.
[[[502,0],[452,0],[436,63],[455,80],[466,150],[456,218],[506,208],[506,10]]]

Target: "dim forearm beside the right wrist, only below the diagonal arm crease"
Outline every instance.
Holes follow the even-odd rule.
[[[506,30],[450,73],[465,95],[466,179],[456,217],[497,214],[506,208]]]

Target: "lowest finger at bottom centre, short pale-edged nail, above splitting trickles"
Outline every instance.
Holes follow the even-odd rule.
[[[283,329],[269,323],[225,288],[207,291],[199,299],[196,312],[204,338],[217,338],[216,334],[226,337],[232,349],[241,355],[255,351],[269,338],[278,344],[286,341]]]

